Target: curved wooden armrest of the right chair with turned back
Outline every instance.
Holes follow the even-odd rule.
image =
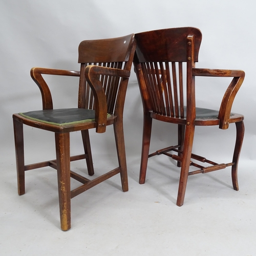
[[[236,94],[244,81],[244,71],[194,68],[192,69],[192,74],[194,76],[233,77],[222,98],[218,117],[220,119],[220,129],[228,129],[232,104],[234,97],[236,97]]]

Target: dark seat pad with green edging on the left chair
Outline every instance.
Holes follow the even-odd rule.
[[[26,113],[19,113],[26,118],[35,121],[52,123],[55,125],[65,125],[80,122],[90,122],[95,119],[95,111],[88,109],[56,109],[38,110]]]

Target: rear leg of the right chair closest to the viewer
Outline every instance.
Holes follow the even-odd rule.
[[[178,206],[182,206],[184,203],[194,134],[195,134],[195,125],[193,125],[193,124],[186,125],[184,151],[183,151],[183,157],[182,157],[180,183],[179,183],[178,198],[177,198]]]

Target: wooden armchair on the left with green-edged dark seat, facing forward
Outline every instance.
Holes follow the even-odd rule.
[[[78,49],[80,72],[33,68],[31,77],[40,89],[43,110],[13,115],[18,194],[25,194],[25,170],[44,166],[57,169],[62,230],[71,228],[71,198],[119,173],[123,191],[128,190],[122,115],[135,47],[134,34],[85,40]],[[51,92],[42,74],[79,76],[78,108],[53,109]],[[56,160],[25,165],[23,124],[55,133]],[[88,174],[94,175],[88,130],[96,128],[97,133],[104,133],[111,124],[119,166],[94,180],[72,172],[70,161],[86,159]],[[81,131],[84,154],[70,156],[70,132],[75,131]],[[70,177],[82,185],[71,190]]]

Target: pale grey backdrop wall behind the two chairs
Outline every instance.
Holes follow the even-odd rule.
[[[200,68],[242,69],[246,73],[232,111],[245,115],[246,135],[241,163],[255,161],[255,3],[238,0],[2,0],[0,2],[1,77],[1,163],[13,164],[15,171],[12,113],[41,108],[36,84],[30,78],[32,67],[78,70],[77,47],[81,40],[117,37],[147,30],[192,26],[201,29],[203,40]],[[76,78],[47,77],[54,106],[76,106]],[[218,109],[229,80],[199,78],[197,105]],[[132,76],[124,110],[127,159],[140,158],[142,105],[136,77]],[[232,155],[235,130],[197,127],[194,152]],[[53,135],[25,129],[26,159],[53,157]],[[159,132],[161,130],[161,132]],[[154,122],[152,148],[176,142],[176,126]],[[107,135],[112,135],[108,129]],[[92,134],[93,154],[112,154],[112,136]],[[38,137],[39,135],[39,137]],[[212,136],[210,136],[212,135]],[[72,135],[72,153],[81,150],[80,134]],[[104,138],[104,139],[103,139]],[[42,143],[42,145],[41,145]],[[210,146],[206,146],[210,143]],[[218,145],[221,143],[221,146]],[[30,147],[32,146],[32,147]],[[36,150],[35,150],[36,148]],[[94,157],[95,158],[95,157]],[[218,161],[218,158],[217,158]],[[3,165],[4,164],[4,165]],[[3,169],[4,170],[4,169]],[[2,170],[1,170],[2,171]],[[139,170],[133,170],[135,173]]]

